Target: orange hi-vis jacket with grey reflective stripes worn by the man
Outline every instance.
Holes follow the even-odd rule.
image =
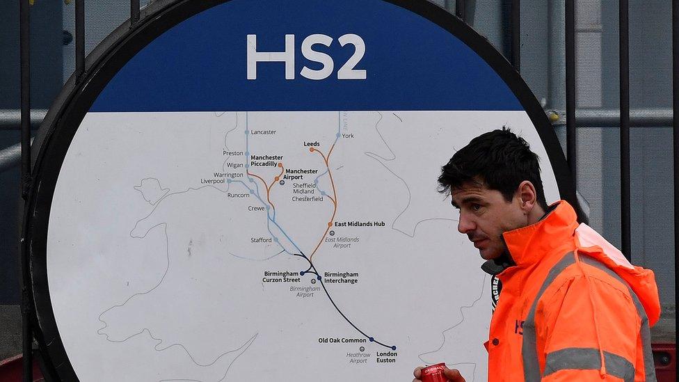
[[[632,266],[561,200],[504,233],[515,266],[497,275],[488,381],[655,381],[653,272]]]

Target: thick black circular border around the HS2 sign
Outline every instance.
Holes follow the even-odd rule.
[[[36,339],[45,356],[46,372],[52,374],[53,378],[65,381],[79,380],[58,332],[47,280],[49,212],[58,174],[72,138],[97,95],[138,51],[184,19],[229,1],[232,0],[177,0],[151,3],[143,10],[144,17],[139,22],[133,26],[130,26],[129,21],[123,24],[88,56],[88,70],[81,77],[72,77],[67,82],[38,132],[35,140],[38,157],[33,169],[29,202],[24,211],[23,229],[31,261],[30,286],[36,318],[34,324],[38,325],[38,330],[35,331]],[[493,68],[516,95],[536,127],[552,164],[561,198],[576,206],[573,181],[557,136],[541,105],[506,58],[486,38],[461,19],[429,1],[382,1],[393,3],[438,24],[465,42]]]

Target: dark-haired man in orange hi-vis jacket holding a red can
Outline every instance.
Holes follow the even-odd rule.
[[[458,231],[487,260],[481,269],[502,281],[484,344],[488,381],[655,381],[653,272],[578,225],[568,202],[547,205],[525,140],[509,129],[478,136],[438,182],[460,211]]]

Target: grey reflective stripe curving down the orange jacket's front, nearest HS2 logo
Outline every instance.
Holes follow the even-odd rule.
[[[523,376],[526,382],[539,382],[541,379],[540,364],[538,363],[538,349],[536,345],[537,339],[535,335],[535,310],[537,308],[538,301],[540,300],[542,294],[545,293],[545,289],[547,289],[547,287],[552,284],[554,279],[559,276],[559,273],[568,268],[570,264],[574,263],[575,255],[573,255],[573,252],[570,252],[566,254],[564,258],[559,260],[556,265],[552,266],[547,278],[545,278],[545,281],[538,290],[538,294],[535,296],[533,305],[531,305],[531,308],[528,311],[528,316],[523,323],[523,344],[521,347],[521,356],[523,359]]]

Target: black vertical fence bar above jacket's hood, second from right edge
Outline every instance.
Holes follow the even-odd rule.
[[[630,223],[630,13],[629,0],[618,3],[620,20],[620,209],[623,254],[632,257]]]

